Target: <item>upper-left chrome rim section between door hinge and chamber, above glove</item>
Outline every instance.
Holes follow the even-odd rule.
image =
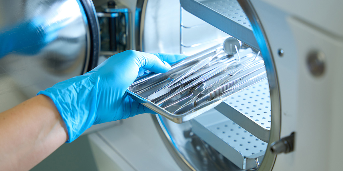
[[[143,30],[146,4],[148,0],[137,0],[135,21],[134,21],[134,36],[135,36],[135,50],[144,51],[143,49]]]

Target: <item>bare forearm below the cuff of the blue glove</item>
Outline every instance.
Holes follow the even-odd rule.
[[[38,95],[0,114],[1,170],[29,170],[68,140],[57,108]]]

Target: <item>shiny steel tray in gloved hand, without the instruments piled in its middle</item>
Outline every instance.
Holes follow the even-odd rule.
[[[134,100],[145,105],[146,107],[149,107],[156,113],[161,114],[162,116],[170,119],[173,122],[183,123],[197,117],[205,111],[214,108],[215,106],[226,100],[230,95],[257,83],[260,80],[263,80],[264,78],[267,78],[262,57],[258,56],[256,52],[254,52],[251,48],[242,48],[239,50],[239,54],[241,57],[240,61],[237,60],[237,54],[233,56],[227,56],[226,53],[222,52],[222,48],[222,45],[217,45],[208,50],[189,56],[185,60],[182,60],[172,65],[171,69],[167,73],[149,73],[147,75],[139,77],[131,84],[127,92]],[[153,100],[148,100],[148,97],[150,95],[152,95],[154,92],[168,84],[170,81],[176,79],[178,76],[186,73],[191,67],[198,64],[199,61],[202,61],[206,58],[211,58],[215,54],[217,54],[217,58],[225,58],[225,60],[230,61],[230,65],[228,68],[231,68],[229,69],[229,71],[240,69],[240,71],[238,73],[235,73],[236,75],[234,75],[232,78],[230,77],[228,80],[223,79],[226,82],[237,78],[241,78],[237,84],[234,84],[234,86],[230,87],[229,89],[226,89],[225,93],[222,93],[213,98],[211,97],[211,100],[206,100],[198,105],[190,103],[190,106],[185,106],[186,102],[189,102],[191,99],[196,98],[199,95],[199,93],[203,92],[203,90],[205,90],[206,88],[212,85],[217,85],[218,83],[216,82],[222,76],[216,76],[213,79],[201,83],[199,86],[193,87],[183,93],[180,93],[179,95],[171,98],[170,100],[167,100],[162,104],[158,104],[158,101],[154,102]],[[250,63],[251,61],[254,62]],[[249,65],[243,65],[244,62],[245,64]],[[246,77],[239,77],[240,73],[246,74],[245,72],[249,71],[249,69],[247,68],[250,68],[250,71],[252,70],[252,67],[248,67],[251,66],[250,64],[258,64],[260,69],[256,71],[254,70],[253,72],[251,72],[252,74],[249,74]],[[260,66],[261,64],[262,68]],[[228,73],[228,71],[225,71],[224,74],[220,75],[225,75],[227,77],[229,76],[229,74],[230,73]],[[221,80],[221,82],[223,80]],[[182,88],[182,86],[180,86],[180,88]],[[176,91],[179,91],[179,89]],[[163,98],[161,99],[163,100]]]

